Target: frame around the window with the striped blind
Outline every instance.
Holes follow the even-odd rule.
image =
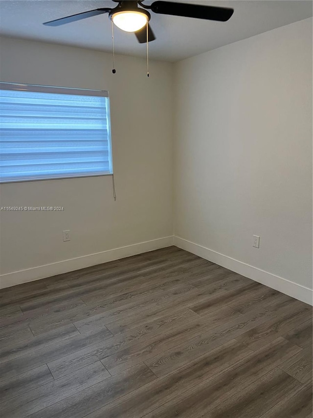
[[[57,177],[47,177],[47,178],[20,178],[20,179],[2,179],[0,172],[0,184],[6,183],[22,183],[28,181],[46,181],[46,180],[61,180],[69,178],[83,178],[83,177],[100,177],[113,175],[113,157],[112,157],[112,135],[111,135],[111,115],[110,115],[110,97],[107,90],[89,90],[89,89],[78,89],[70,87],[58,87],[58,86],[46,86],[40,84],[22,84],[22,83],[10,83],[10,82],[0,82],[0,90],[11,90],[11,91],[29,91],[32,93],[50,93],[50,94],[68,94],[76,96],[94,96],[94,97],[105,97],[107,101],[107,141],[108,141],[108,161],[109,161],[109,170],[107,173],[89,173],[89,174],[59,174]],[[0,109],[1,110],[1,109]],[[1,124],[0,124],[1,127]],[[0,129],[1,132],[1,129]],[[1,151],[1,147],[0,147]]]

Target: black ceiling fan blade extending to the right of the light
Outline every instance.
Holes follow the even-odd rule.
[[[217,20],[220,22],[226,22],[234,13],[233,9],[226,7],[174,3],[172,1],[155,1],[150,8],[153,12],[162,15],[185,16],[187,18]]]

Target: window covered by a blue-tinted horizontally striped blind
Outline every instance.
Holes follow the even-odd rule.
[[[108,92],[0,83],[1,182],[112,174]]]

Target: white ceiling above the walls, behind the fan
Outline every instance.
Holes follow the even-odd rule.
[[[175,1],[175,0],[172,0]],[[151,13],[156,40],[149,44],[151,58],[179,61],[223,45],[288,25],[312,16],[312,1],[292,0],[180,0],[188,3],[232,7],[228,22],[213,22]],[[145,1],[151,4],[152,1]],[[116,3],[101,0],[1,0],[0,34],[50,43],[111,51],[108,15],[95,16],[63,26],[43,22]],[[146,45],[134,34],[114,28],[115,52],[145,56]]]

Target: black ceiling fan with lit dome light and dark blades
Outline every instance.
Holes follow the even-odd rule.
[[[148,24],[151,15],[146,9],[162,15],[184,16],[220,22],[226,22],[234,12],[233,9],[226,7],[204,6],[200,4],[187,4],[172,1],[154,1],[151,5],[143,4],[143,0],[112,1],[118,3],[114,8],[105,7],[89,10],[88,12],[78,13],[76,15],[45,22],[44,25],[65,25],[81,19],[108,13],[109,19],[112,20],[117,27],[125,30],[126,32],[134,32],[138,42],[143,44],[147,42],[147,32],[149,42],[156,39],[150,25]]]

